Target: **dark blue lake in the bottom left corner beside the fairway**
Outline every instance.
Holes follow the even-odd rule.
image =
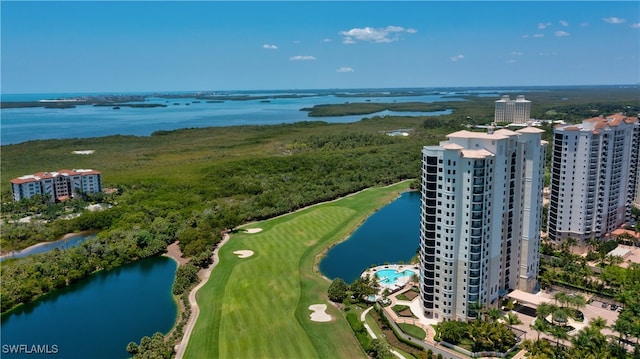
[[[2,316],[3,358],[127,358],[126,346],[167,333],[177,315],[171,286],[177,264],[152,257],[103,271]],[[57,354],[11,354],[10,345]],[[55,345],[55,347],[54,347]]]

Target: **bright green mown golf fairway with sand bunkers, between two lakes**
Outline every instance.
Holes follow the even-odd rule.
[[[405,181],[248,227],[220,249],[221,262],[198,292],[200,316],[186,358],[365,358],[344,313],[327,299],[316,256],[406,190]],[[236,250],[254,255],[239,259]],[[331,322],[312,322],[327,304]]]

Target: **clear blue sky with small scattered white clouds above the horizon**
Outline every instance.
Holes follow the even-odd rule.
[[[3,93],[640,83],[638,1],[2,1]]]

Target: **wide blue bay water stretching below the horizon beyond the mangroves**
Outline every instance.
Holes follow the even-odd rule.
[[[248,95],[281,95],[274,93],[248,93]],[[304,95],[312,95],[303,93]],[[3,94],[3,101],[38,101],[97,94]],[[233,94],[235,95],[235,94]],[[146,103],[163,104],[166,107],[131,108],[120,106],[81,105],[68,109],[11,108],[0,110],[0,144],[8,145],[30,140],[58,138],[86,138],[108,135],[148,136],[158,130],[199,128],[212,126],[274,125],[301,121],[325,121],[347,123],[362,118],[385,115],[438,116],[451,110],[437,112],[393,112],[339,116],[309,117],[303,108],[319,104],[346,102],[440,102],[462,100],[446,97],[451,93],[398,97],[336,97],[332,94],[316,94],[298,98],[272,98],[264,100],[225,100],[209,103],[195,98],[147,97]]]

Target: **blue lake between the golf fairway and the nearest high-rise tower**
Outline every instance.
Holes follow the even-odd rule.
[[[351,283],[372,264],[408,263],[420,245],[420,193],[405,192],[372,214],[320,261],[330,279]]]

